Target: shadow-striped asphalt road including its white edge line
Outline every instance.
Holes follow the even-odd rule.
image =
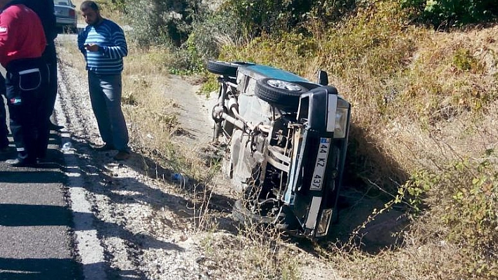
[[[60,33],[57,40],[76,37]],[[61,138],[70,140],[68,132],[51,131],[46,160],[34,168],[5,164],[15,158],[12,135],[11,151],[0,153],[0,280],[107,278],[83,183],[68,177],[68,160],[78,163],[60,152]]]

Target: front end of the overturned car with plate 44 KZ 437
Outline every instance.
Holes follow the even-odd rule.
[[[344,102],[340,103],[344,106]],[[298,119],[307,121],[305,126],[295,128],[294,142],[299,144],[290,164],[283,202],[295,213],[304,234],[312,238],[328,234],[337,211],[350,105],[347,104],[346,108],[348,125],[345,137],[334,133],[338,109],[335,88],[322,86],[301,95]]]

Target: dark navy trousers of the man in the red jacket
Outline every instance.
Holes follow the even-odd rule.
[[[6,69],[6,96],[15,148],[20,159],[35,161],[45,156],[49,143],[49,69],[42,58],[15,60]]]

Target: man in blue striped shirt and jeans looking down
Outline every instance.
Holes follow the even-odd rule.
[[[80,10],[88,25],[78,35],[78,48],[87,61],[91,107],[105,142],[96,149],[117,149],[114,159],[128,159],[128,129],[121,109],[122,58],[128,54],[125,34],[115,22],[102,18],[94,1],[84,1]]]

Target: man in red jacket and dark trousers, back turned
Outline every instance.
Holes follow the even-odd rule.
[[[0,64],[7,70],[6,96],[11,132],[18,156],[11,166],[32,166],[45,153],[41,142],[49,138],[44,114],[49,74],[41,58],[46,39],[34,11],[12,0],[0,0]]]

